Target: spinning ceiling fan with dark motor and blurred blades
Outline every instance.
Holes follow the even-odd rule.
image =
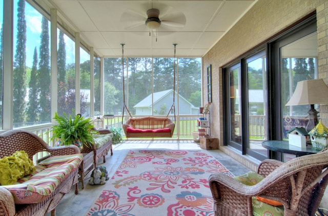
[[[160,13],[161,10],[164,12]],[[127,10],[122,13],[121,22],[129,31],[172,33],[185,27],[186,16],[182,12],[173,11],[172,7],[158,4],[156,8]]]

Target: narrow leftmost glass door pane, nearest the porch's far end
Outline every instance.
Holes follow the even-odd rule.
[[[241,150],[241,79],[240,66],[229,68],[230,145]]]

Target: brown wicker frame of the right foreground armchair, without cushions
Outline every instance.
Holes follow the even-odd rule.
[[[265,178],[246,186],[222,173],[209,178],[215,215],[253,215],[252,197],[281,202],[284,215],[315,215],[328,184],[328,149],[283,163],[264,160],[258,173]]]

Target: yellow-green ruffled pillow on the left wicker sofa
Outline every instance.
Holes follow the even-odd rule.
[[[33,161],[25,151],[16,151],[0,159],[0,185],[12,185],[19,178],[35,171]]]

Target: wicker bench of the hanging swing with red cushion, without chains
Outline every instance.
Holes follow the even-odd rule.
[[[124,132],[131,137],[172,137],[175,124],[167,117],[140,117],[127,120]]]

